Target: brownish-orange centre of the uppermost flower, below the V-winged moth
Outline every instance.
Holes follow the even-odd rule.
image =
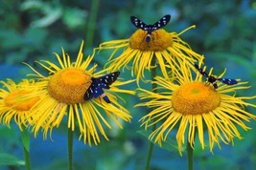
[[[147,31],[138,30],[129,38],[129,47],[140,51],[164,51],[173,46],[172,34],[163,29],[151,32],[150,42],[146,41]]]

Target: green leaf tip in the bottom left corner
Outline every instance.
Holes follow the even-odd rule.
[[[0,153],[0,165],[25,165],[25,161],[10,154]]]

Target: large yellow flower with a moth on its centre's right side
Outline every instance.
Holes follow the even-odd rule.
[[[50,75],[43,76],[34,70],[36,76],[39,76],[39,81],[42,84],[43,91],[40,94],[40,101],[36,104],[36,109],[33,110],[31,117],[34,119],[33,131],[35,136],[40,128],[44,131],[44,137],[54,127],[58,127],[62,119],[67,116],[67,126],[75,131],[78,125],[81,138],[84,143],[92,142],[98,144],[100,142],[99,133],[106,139],[104,126],[111,129],[110,120],[113,120],[120,128],[123,119],[129,121],[131,116],[128,115],[128,110],[123,107],[114,93],[126,93],[134,95],[134,91],[122,90],[118,86],[126,85],[131,81],[120,82],[115,81],[109,90],[105,90],[105,95],[108,96],[111,103],[106,103],[102,97],[91,98],[84,101],[83,96],[92,83],[92,77],[101,76],[105,70],[95,73],[97,65],[90,67],[94,53],[83,60],[81,49],[77,60],[71,62],[70,56],[64,53],[62,49],[62,57],[57,53],[58,65],[50,61],[37,62]],[[105,116],[103,116],[105,113]]]

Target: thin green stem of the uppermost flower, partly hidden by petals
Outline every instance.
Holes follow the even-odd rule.
[[[156,67],[154,67],[155,66],[155,62],[156,62],[155,61],[155,57],[152,57],[151,66],[153,66],[153,67],[151,69],[151,80],[154,80],[154,77],[156,76]],[[156,90],[157,84],[156,83],[151,83],[151,85],[152,85],[151,86],[152,92],[153,93],[157,93],[157,90]],[[156,123],[154,123],[152,125],[152,132],[155,129],[156,129]],[[150,169],[153,146],[154,146],[154,144],[152,142],[150,142],[149,153],[148,153],[148,157],[147,157],[147,162],[146,162],[145,170],[149,170]]]

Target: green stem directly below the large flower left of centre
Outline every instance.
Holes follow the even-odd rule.
[[[68,154],[68,170],[73,170],[73,131],[72,131],[72,128],[67,129],[67,154]]]

